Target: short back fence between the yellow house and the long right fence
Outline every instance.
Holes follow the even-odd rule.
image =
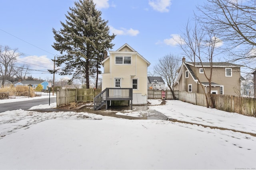
[[[166,100],[173,100],[172,92],[170,90],[148,90],[148,99],[162,99],[162,93]],[[174,91],[176,98],[179,98],[179,91]]]

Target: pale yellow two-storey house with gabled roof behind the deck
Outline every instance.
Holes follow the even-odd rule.
[[[133,104],[147,104],[147,74],[150,63],[127,43],[102,61],[102,90],[133,88]]]

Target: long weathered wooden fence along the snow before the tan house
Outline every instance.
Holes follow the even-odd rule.
[[[244,98],[225,94],[211,94],[215,108],[218,110],[235,112],[246,116],[256,117],[256,98]],[[210,95],[207,94],[210,103]],[[179,100],[198,106],[206,106],[204,94],[179,92]]]

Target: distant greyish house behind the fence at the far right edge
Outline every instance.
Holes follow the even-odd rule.
[[[254,82],[246,80],[241,76],[241,96],[254,97]]]

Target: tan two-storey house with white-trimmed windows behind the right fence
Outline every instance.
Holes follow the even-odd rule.
[[[185,58],[182,59],[182,65],[178,72],[178,78],[174,83],[174,90],[186,92],[208,93],[209,82],[206,75],[210,74],[210,63],[196,63],[195,66],[192,62],[186,62]],[[232,96],[240,96],[240,67],[242,65],[231,64],[226,62],[212,63],[212,82],[211,94],[228,94]],[[202,83],[204,89],[198,82]]]

